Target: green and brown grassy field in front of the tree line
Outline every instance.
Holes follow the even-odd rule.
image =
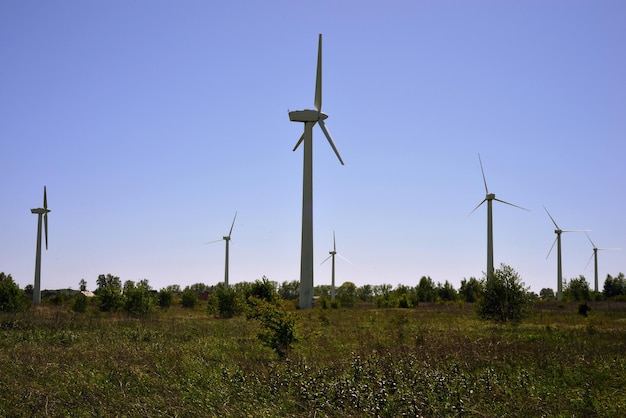
[[[294,311],[285,359],[202,306],[42,306],[0,315],[0,416],[624,416],[626,303],[590,306],[517,326],[469,304]]]

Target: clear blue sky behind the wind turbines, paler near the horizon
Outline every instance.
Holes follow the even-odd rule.
[[[315,284],[482,277],[556,289],[555,238],[590,229],[626,272],[626,2],[0,2],[0,271],[42,289],[99,274],[156,289],[224,275],[299,279],[302,124],[324,36],[327,126],[314,130]],[[563,235],[565,279],[592,247]]]

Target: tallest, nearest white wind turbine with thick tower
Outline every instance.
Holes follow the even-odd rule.
[[[322,113],[322,34],[319,35],[317,50],[317,75],[315,80],[315,110],[289,112],[289,120],[303,122],[304,133],[293,148],[295,151],[304,142],[304,175],[302,182],[302,244],[300,253],[300,309],[313,307],[313,126],[319,123],[326,139],[343,165],[339,151],[326,129]]]

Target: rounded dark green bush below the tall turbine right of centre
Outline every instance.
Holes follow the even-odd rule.
[[[512,267],[501,264],[484,281],[484,291],[478,303],[483,319],[497,322],[520,322],[530,312],[528,288]]]

